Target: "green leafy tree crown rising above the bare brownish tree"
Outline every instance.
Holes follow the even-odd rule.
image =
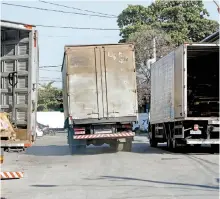
[[[122,36],[120,42],[126,42],[129,35],[143,25],[163,29],[176,45],[198,42],[219,28],[218,22],[207,19],[208,16],[202,1],[156,0],[148,7],[129,5],[117,20]]]

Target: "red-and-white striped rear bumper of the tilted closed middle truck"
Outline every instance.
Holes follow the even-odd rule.
[[[109,133],[109,134],[92,134],[92,135],[74,135],[74,140],[90,140],[90,139],[118,139],[134,137],[133,132]]]

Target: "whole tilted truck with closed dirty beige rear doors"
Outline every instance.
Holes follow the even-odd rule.
[[[138,114],[134,46],[65,46],[62,79],[71,149],[107,143],[131,151]]]

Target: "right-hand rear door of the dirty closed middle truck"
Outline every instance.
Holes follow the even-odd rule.
[[[132,45],[103,46],[107,117],[137,113],[136,73]]]

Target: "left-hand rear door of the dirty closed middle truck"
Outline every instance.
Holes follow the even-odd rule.
[[[96,56],[97,54],[97,56]],[[67,91],[69,114],[73,119],[100,117],[100,85],[97,70],[100,53],[94,46],[67,47]]]

